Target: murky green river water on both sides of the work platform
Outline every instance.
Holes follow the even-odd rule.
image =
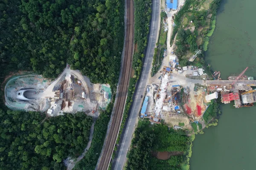
[[[209,42],[207,63],[221,71],[221,78],[240,74],[256,79],[255,0],[223,0],[216,28]],[[218,126],[196,135],[191,170],[256,170],[256,105],[234,108],[221,105]]]

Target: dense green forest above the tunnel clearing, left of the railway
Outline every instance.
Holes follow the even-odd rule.
[[[55,78],[68,62],[91,82],[118,81],[123,0],[3,0],[1,67]]]

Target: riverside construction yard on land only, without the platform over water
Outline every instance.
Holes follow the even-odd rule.
[[[185,70],[186,73],[194,71]],[[174,68],[165,66],[158,75],[152,77],[151,85],[145,91],[140,117],[149,118],[150,122],[157,124],[164,120],[166,125],[175,127],[175,130],[191,129],[190,122],[199,121],[209,104],[205,100],[207,88],[201,85],[204,81],[187,81],[186,73],[178,74]],[[183,127],[178,126],[181,122],[184,123]]]

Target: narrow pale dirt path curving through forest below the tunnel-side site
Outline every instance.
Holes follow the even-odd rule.
[[[84,152],[77,159],[70,159],[70,157],[68,157],[67,159],[64,160],[64,164],[67,167],[67,170],[72,170],[75,167],[76,163],[78,161],[80,161],[81,159],[83,159],[85,156],[85,153],[87,153],[87,151],[89,150],[90,145],[92,143],[92,139],[93,139],[94,124],[95,124],[95,122],[93,122],[93,124],[90,128],[89,142],[88,142],[87,146],[85,147]]]

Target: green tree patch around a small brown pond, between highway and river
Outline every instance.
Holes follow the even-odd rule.
[[[185,160],[189,137],[186,132],[168,129],[166,125],[151,125],[146,119],[135,130],[132,148],[128,153],[128,170],[180,170]],[[153,157],[157,151],[178,151],[183,155],[171,156],[168,160]]]

